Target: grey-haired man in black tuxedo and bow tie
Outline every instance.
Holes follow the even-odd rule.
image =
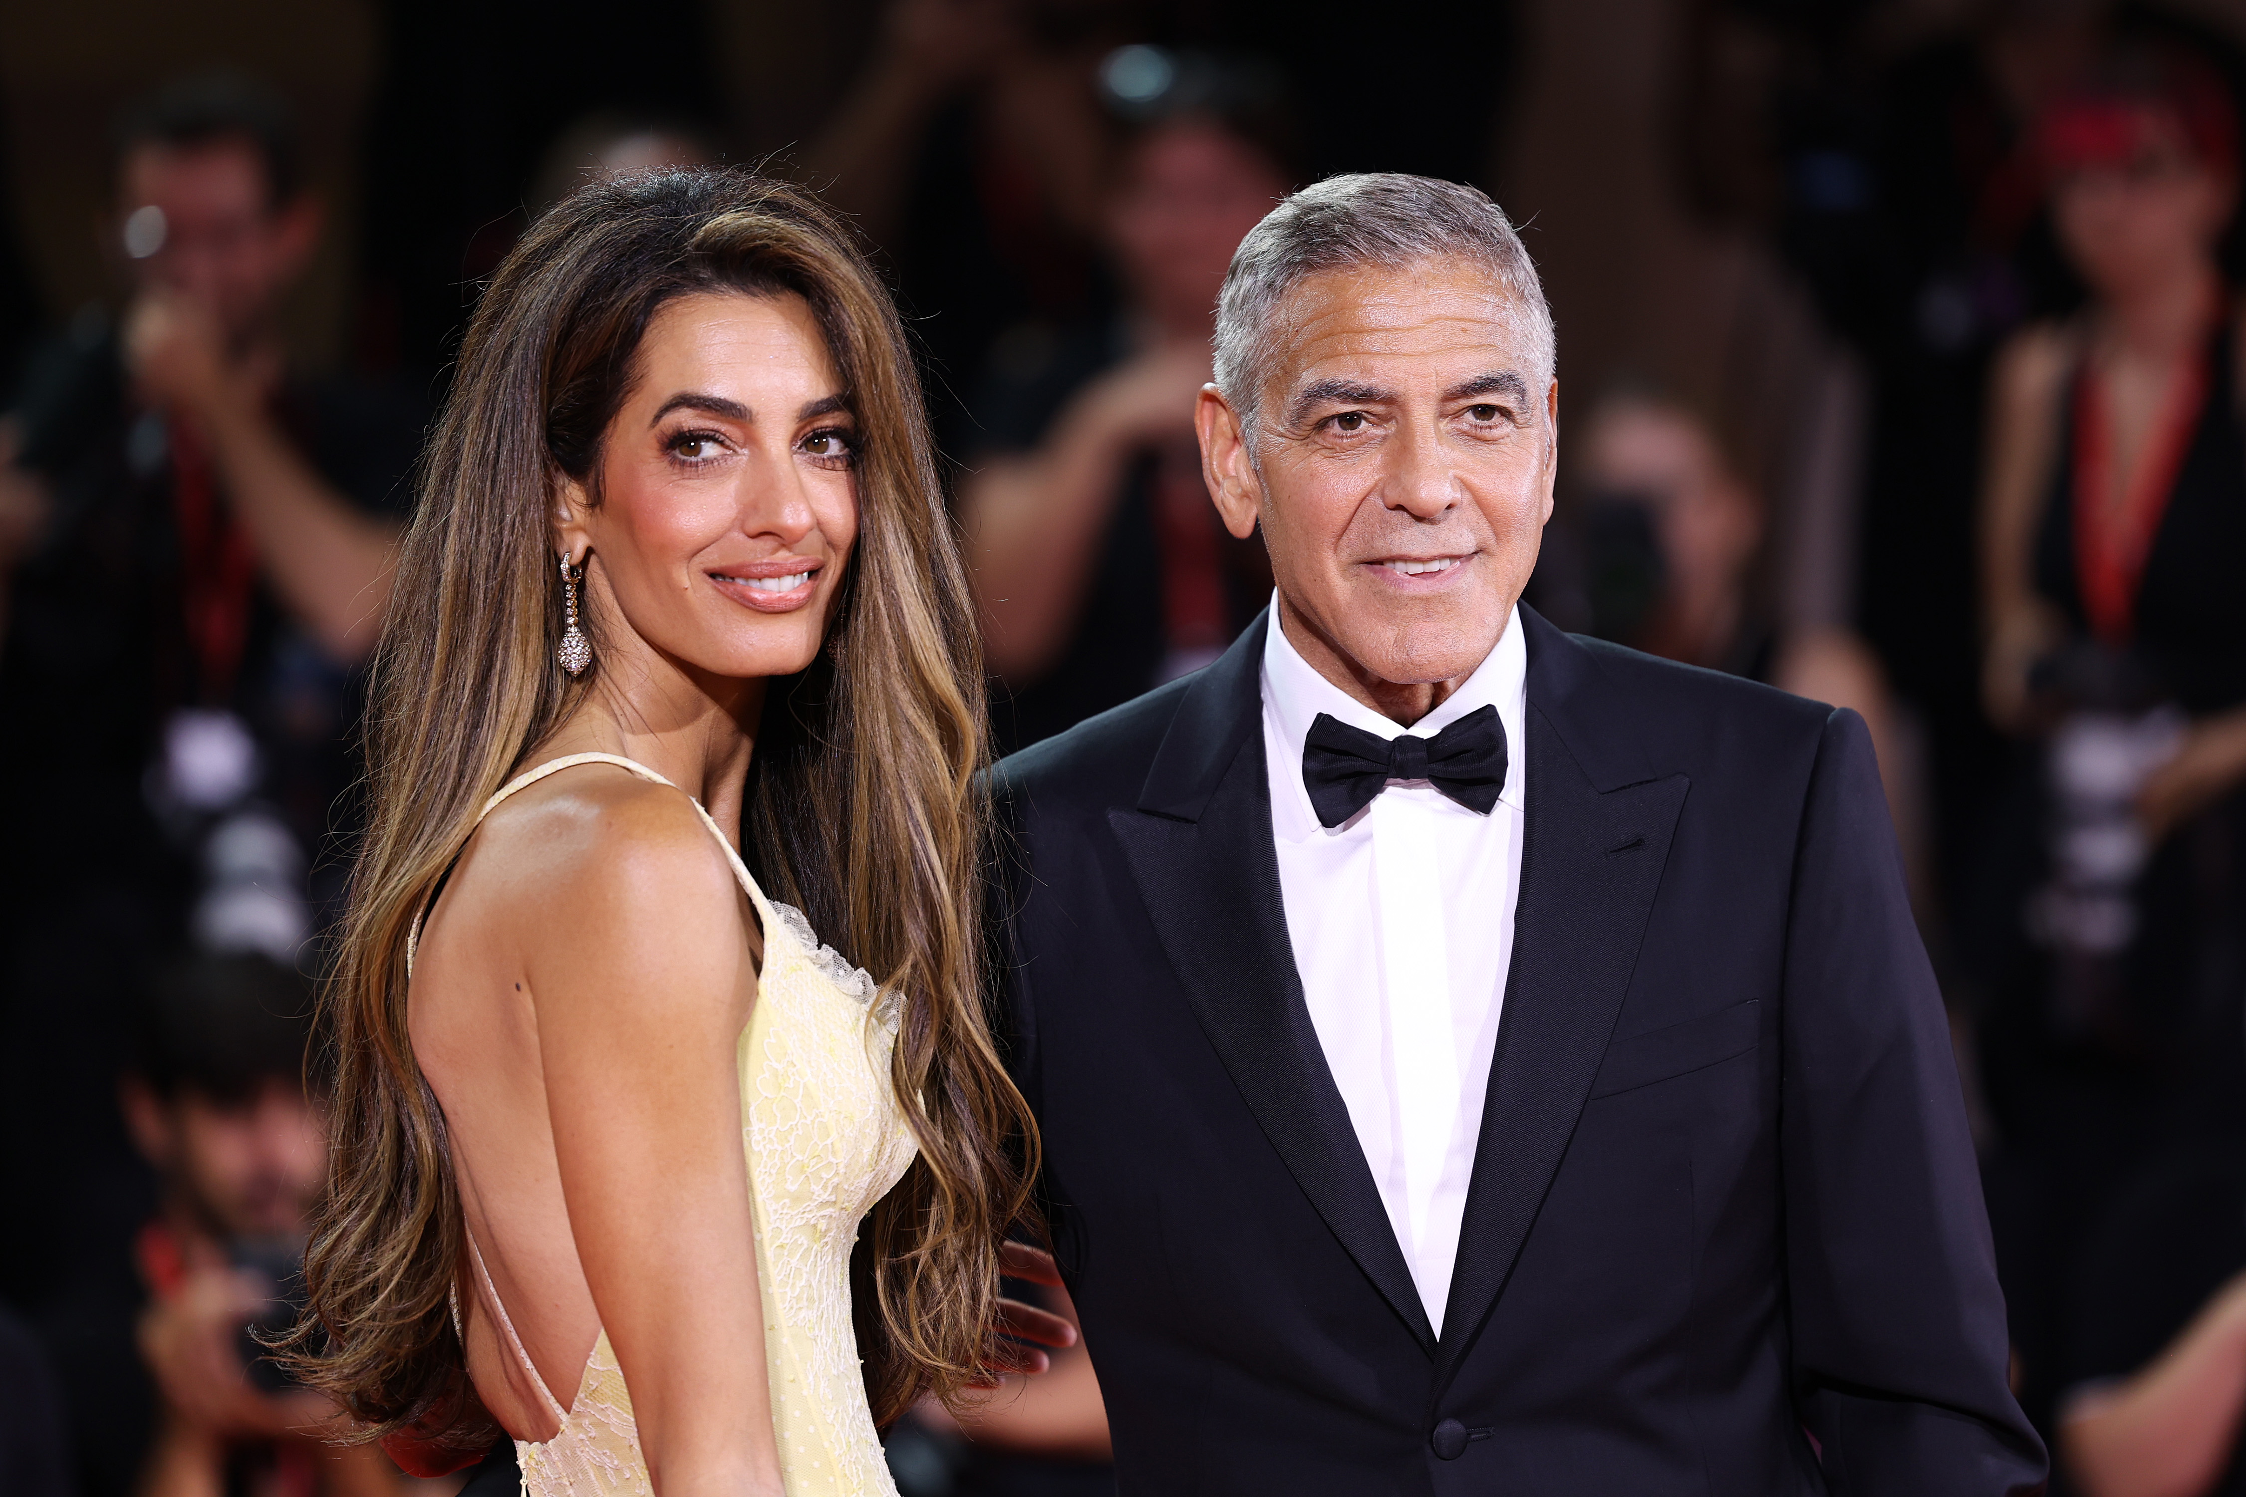
[[[1273,610],[997,770],[1123,1490],[2039,1490],[1864,727],[1518,606],[1552,357],[1480,193],[1282,202],[1197,408]]]

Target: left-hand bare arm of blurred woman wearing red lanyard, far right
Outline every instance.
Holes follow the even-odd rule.
[[[2051,608],[2035,595],[2035,527],[2060,442],[2060,402],[2075,361],[2071,334],[2030,328],[1997,355],[1981,471],[1981,696],[1999,727],[2019,723],[2028,667],[2051,646]]]

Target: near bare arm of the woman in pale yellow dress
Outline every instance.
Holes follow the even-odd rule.
[[[743,893],[672,790],[633,786],[597,821],[523,954],[570,1234],[656,1493],[777,1497],[741,1156]]]

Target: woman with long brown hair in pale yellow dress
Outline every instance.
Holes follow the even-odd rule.
[[[465,1367],[532,1495],[892,1490],[876,1418],[995,1369],[1033,1131],[973,606],[844,231],[728,171],[555,206],[375,669],[305,1376],[427,1434]]]

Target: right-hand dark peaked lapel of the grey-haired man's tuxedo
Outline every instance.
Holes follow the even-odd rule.
[[[1530,608],[1527,815],[1514,958],[1437,1353],[1449,1378],[1543,1205],[1622,1010],[1684,808],[1590,651]]]

